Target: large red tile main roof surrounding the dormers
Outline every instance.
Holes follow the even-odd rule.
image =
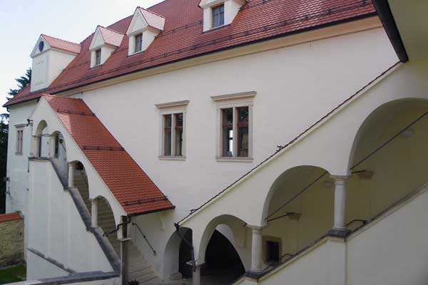
[[[199,2],[165,0],[152,6],[148,10],[165,17],[164,31],[146,51],[133,56],[128,56],[128,37],[124,37],[121,46],[97,68],[90,68],[92,34],[82,41],[81,53],[44,92],[59,93],[205,53],[376,14],[370,0],[252,0],[244,4],[232,24],[203,33]],[[131,19],[128,16],[109,28],[126,33]],[[40,96],[41,92],[20,93],[6,106]]]

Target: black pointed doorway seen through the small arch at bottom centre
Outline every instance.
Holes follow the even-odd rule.
[[[216,229],[205,251],[202,276],[215,284],[232,284],[245,273],[242,261],[228,238]]]

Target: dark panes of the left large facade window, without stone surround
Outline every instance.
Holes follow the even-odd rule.
[[[183,113],[163,115],[163,156],[183,156]]]

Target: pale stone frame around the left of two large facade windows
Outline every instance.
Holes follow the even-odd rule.
[[[175,101],[170,103],[156,104],[160,113],[159,130],[159,159],[160,160],[185,160],[186,155],[186,113],[189,100]],[[183,113],[183,142],[181,155],[175,155],[175,114]],[[165,115],[171,115],[171,155],[165,155]]]

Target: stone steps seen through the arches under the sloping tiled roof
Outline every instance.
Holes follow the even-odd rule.
[[[88,211],[91,213],[88,179],[83,170],[74,171],[74,187],[76,187],[78,192],[80,192],[83,202],[85,202]],[[103,232],[111,232],[116,229],[113,213],[111,212],[110,205],[106,199],[98,201],[98,226],[103,229]],[[108,235],[108,241],[120,257],[121,243],[118,241],[117,235]],[[153,269],[151,269],[151,264],[143,258],[143,255],[133,244],[132,240],[128,243],[128,273],[129,280],[137,280],[140,285],[163,284],[161,279],[159,279]]]

